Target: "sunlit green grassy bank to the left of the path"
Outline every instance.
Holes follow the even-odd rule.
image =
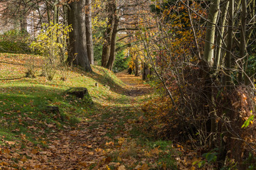
[[[80,101],[69,100],[62,94],[70,87],[86,87],[96,105],[104,105],[105,101],[114,101],[122,96],[122,81],[107,69],[97,66],[92,67],[94,72],[91,74],[71,70],[68,72],[67,81],[60,81],[60,72],[55,75],[53,81],[47,81],[46,77],[18,79],[24,76],[30,64],[29,58],[29,55],[0,54],[0,122],[4,125],[0,127],[0,140],[3,136],[5,140],[12,140],[22,133],[35,138],[38,129],[45,133],[52,124],[61,128],[68,123],[55,118],[55,115],[45,113],[46,106],[49,105],[58,106],[60,113],[69,123],[73,123],[76,118],[86,118],[90,115],[93,109],[87,108]],[[39,75],[39,57],[36,57],[36,65]],[[95,86],[96,82],[99,84],[98,88]],[[104,84],[111,86],[111,90],[107,91]]]

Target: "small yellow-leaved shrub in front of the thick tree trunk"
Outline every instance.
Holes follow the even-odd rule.
[[[57,67],[62,67],[63,77],[67,77],[67,65],[65,64],[66,40],[71,26],[65,27],[63,24],[43,24],[41,33],[30,45],[32,50],[38,50],[45,57],[44,70],[48,80],[52,80]]]

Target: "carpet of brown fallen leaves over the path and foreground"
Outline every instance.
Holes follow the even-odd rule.
[[[141,99],[148,97],[151,88],[139,77],[124,72],[117,77],[127,84],[122,102],[121,99],[112,101],[113,98],[103,100],[101,108],[96,108],[94,115],[79,123],[77,128],[64,126],[59,130],[55,124],[19,118],[21,124],[23,121],[45,124],[51,132],[45,134],[34,125],[28,126],[28,130],[33,130],[41,140],[42,145],[36,146],[22,133],[18,136],[21,141],[5,140],[3,136],[0,169],[168,169],[164,162],[156,163],[160,154],[167,155],[168,152],[176,160],[176,169],[193,169],[193,162],[201,159],[181,145],[171,146],[178,152],[171,148],[149,149],[139,144],[137,137],[131,137],[134,125],[141,127],[144,121],[143,115],[139,114],[142,112]],[[127,118],[127,115],[132,116]]]

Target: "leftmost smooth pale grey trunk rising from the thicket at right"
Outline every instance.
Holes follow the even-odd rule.
[[[203,58],[208,63],[209,67],[213,67],[215,27],[217,23],[219,8],[220,0],[212,1],[212,3],[210,4],[210,11],[206,30],[206,42],[203,53]]]

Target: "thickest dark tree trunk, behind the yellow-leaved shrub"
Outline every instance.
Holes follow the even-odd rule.
[[[70,34],[70,56],[68,61],[79,65],[86,72],[92,72],[90,67],[85,33],[85,0],[73,1],[68,11],[68,23],[72,24]]]

